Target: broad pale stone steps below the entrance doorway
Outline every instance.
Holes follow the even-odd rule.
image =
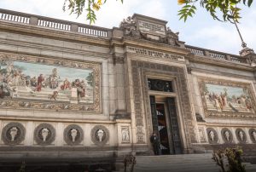
[[[164,156],[137,156],[135,172],[218,172],[212,153]],[[256,164],[243,163],[247,172],[256,172]]]

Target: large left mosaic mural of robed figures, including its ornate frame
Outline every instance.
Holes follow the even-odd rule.
[[[30,107],[40,100],[55,102],[49,104],[54,109],[94,110],[92,105],[100,106],[99,95],[99,64],[0,56],[0,101],[26,100],[24,106]]]

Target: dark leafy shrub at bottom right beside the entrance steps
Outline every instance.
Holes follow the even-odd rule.
[[[245,165],[241,164],[241,154],[241,148],[228,147],[224,150],[220,149],[217,152],[214,152],[212,154],[212,159],[221,168],[222,172],[246,172]],[[227,159],[228,164],[224,164],[225,158]]]

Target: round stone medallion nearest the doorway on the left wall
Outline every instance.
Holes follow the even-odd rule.
[[[96,125],[90,132],[91,140],[97,146],[105,145],[109,140],[109,131],[102,125]]]

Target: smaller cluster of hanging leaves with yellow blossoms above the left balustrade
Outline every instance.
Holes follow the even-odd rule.
[[[123,0],[116,1],[123,3]],[[85,10],[87,13],[86,19],[90,20],[90,24],[92,24],[96,21],[95,11],[101,9],[106,2],[107,0],[65,0],[62,9],[64,11],[69,10],[70,14],[77,14],[77,17]]]

